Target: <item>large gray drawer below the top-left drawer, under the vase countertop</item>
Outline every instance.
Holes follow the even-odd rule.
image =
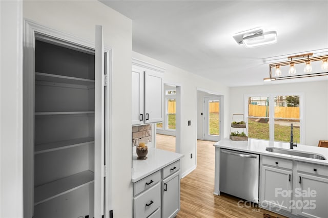
[[[147,217],[160,207],[160,183],[133,198],[134,218]]]

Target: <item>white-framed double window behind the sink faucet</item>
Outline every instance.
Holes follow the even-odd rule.
[[[268,95],[248,97],[248,135],[250,138],[300,142],[300,96]]]

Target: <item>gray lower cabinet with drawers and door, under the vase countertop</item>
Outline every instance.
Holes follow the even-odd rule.
[[[180,160],[133,183],[134,218],[168,218],[180,211]]]

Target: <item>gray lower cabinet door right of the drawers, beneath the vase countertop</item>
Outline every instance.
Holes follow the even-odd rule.
[[[180,210],[180,170],[162,182],[162,218],[174,217]]]

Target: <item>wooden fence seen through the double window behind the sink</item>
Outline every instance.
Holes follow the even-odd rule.
[[[249,104],[249,116],[269,117],[269,106]],[[296,118],[299,119],[299,107],[275,106],[276,118]]]

